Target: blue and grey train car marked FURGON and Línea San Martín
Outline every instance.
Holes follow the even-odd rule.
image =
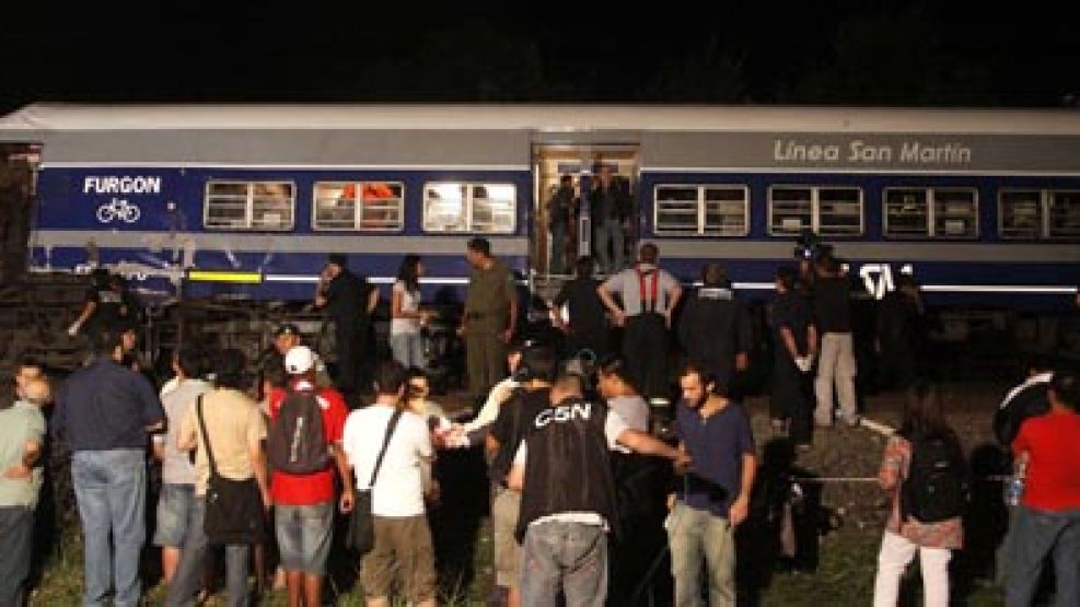
[[[417,253],[460,301],[474,236],[543,282],[548,192],[602,165],[665,267],[750,297],[808,233],[873,296],[903,271],[931,304],[1064,310],[1080,282],[1071,109],[37,104],[0,143],[39,151],[31,270],[173,295],[310,300],[327,253],[380,284]]]

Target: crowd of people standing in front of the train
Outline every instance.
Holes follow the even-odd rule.
[[[224,550],[230,605],[247,605],[271,584],[290,606],[321,605],[337,559],[359,561],[371,606],[394,596],[434,605],[440,462],[474,448],[487,463],[501,602],[657,599],[654,562],[666,552],[674,585],[661,603],[734,605],[735,532],[750,515],[760,462],[738,389],[755,352],[753,329],[724,268],[706,265],[701,288],[684,293],[651,243],[603,281],[581,258],[555,299],[565,308],[555,318],[561,338],[530,339],[518,330],[507,265],[483,238],[468,243],[466,257],[473,276],[458,330],[467,404],[479,408],[466,407],[465,417],[431,398],[419,257],[405,257],[392,290],[390,360],[365,364],[375,351],[367,340],[378,291],[332,255],[315,303],[335,323],[336,363],[324,364],[286,324],[254,365],[254,382],[242,351],[188,342],[172,354],[172,378],[154,385],[131,360],[133,311],[121,285],[95,283],[72,326],[93,343],[88,364],[54,398],[44,369],[26,359],[15,400],[0,404],[0,606],[18,605],[24,591],[50,435],[71,453],[84,605],[140,604],[151,509],[166,605],[199,600],[216,547]],[[848,282],[824,254],[778,268],[776,293],[771,429],[805,451],[814,428],[825,431],[834,416],[860,423]],[[920,315],[918,285],[907,278],[878,315],[875,349],[892,385],[907,394],[879,478],[891,497],[874,583],[880,606],[896,604],[916,553],[926,604],[948,605],[948,563],[964,540],[969,477],[938,392],[918,377]],[[672,340],[682,352],[674,373]],[[1010,606],[1032,603],[1047,558],[1059,604],[1080,600],[1080,380],[1055,366],[1033,364],[995,420],[1015,470],[999,559]],[[364,385],[374,394],[358,406]],[[665,418],[670,432],[659,432]],[[150,462],[161,470],[153,489]],[[247,482],[265,524],[243,536],[211,532],[218,478]],[[361,495],[370,495],[373,542],[356,555],[334,536],[342,518],[359,516]]]

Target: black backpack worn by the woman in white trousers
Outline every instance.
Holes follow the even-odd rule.
[[[960,516],[967,502],[967,472],[956,441],[948,435],[911,440],[911,462],[901,485],[901,520],[938,523]]]

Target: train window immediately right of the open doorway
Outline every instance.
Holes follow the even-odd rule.
[[[657,234],[744,236],[750,191],[744,186],[657,186]]]

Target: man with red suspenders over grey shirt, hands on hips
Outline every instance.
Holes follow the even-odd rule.
[[[625,326],[623,355],[634,383],[650,402],[667,402],[667,330],[683,288],[671,273],[657,267],[660,249],[646,243],[632,268],[608,278],[596,290],[615,324]],[[623,301],[619,307],[615,295]]]

